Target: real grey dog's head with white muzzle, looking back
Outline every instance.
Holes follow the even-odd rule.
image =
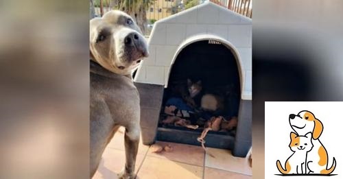
[[[108,71],[128,75],[149,55],[141,30],[124,12],[107,12],[89,27],[91,59]]]

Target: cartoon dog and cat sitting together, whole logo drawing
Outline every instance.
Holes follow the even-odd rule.
[[[320,141],[320,135],[324,130],[322,122],[314,113],[302,110],[297,115],[289,115],[290,132],[289,148],[293,152],[285,160],[276,160],[276,167],[280,176],[334,176],[332,172],[336,167],[336,160],[328,163],[329,155],[327,149]],[[281,163],[285,160],[285,163]]]

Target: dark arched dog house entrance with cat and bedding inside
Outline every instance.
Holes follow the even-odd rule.
[[[241,84],[235,52],[216,40],[184,47],[171,66],[163,94],[157,140],[233,148]]]

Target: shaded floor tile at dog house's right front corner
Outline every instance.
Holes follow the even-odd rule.
[[[252,169],[246,158],[235,157],[231,154],[230,150],[215,149],[211,147],[207,147],[207,149],[215,158],[206,154],[205,167],[252,175]]]

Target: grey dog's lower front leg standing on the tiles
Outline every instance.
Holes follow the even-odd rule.
[[[139,127],[126,128],[125,130],[126,165],[119,178],[134,178],[134,165],[136,163],[140,132]]]

